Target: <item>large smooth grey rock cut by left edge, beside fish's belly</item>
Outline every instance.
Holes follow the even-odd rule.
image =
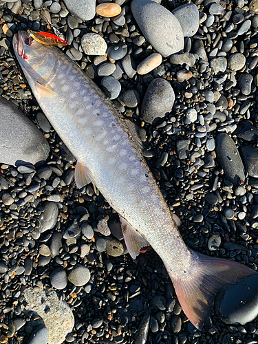
[[[17,107],[0,97],[0,162],[19,166],[46,160],[50,146]]]

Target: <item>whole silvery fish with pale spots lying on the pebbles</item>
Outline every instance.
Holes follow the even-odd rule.
[[[118,213],[133,259],[147,246],[157,252],[182,310],[201,330],[215,296],[257,272],[186,246],[142,155],[136,125],[66,54],[25,31],[14,35],[13,47],[41,109],[76,158],[76,186],[92,182]]]

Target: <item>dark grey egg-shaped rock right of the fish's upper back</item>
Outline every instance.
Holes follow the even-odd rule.
[[[151,81],[142,100],[141,114],[145,122],[152,123],[171,112],[175,94],[169,81],[156,78]]]

